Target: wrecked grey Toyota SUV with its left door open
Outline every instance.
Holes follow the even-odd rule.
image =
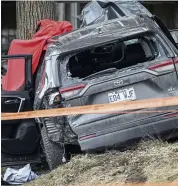
[[[178,50],[166,33],[148,15],[133,15],[56,36],[49,40],[38,68],[34,102],[27,91],[2,92],[2,111],[8,110],[7,103],[19,111],[23,102],[20,111],[25,111],[32,109],[30,104],[41,110],[178,96]],[[31,77],[26,78],[29,86]],[[178,106],[159,108],[164,109],[178,110]],[[53,169],[65,161],[66,145],[92,152],[143,138],[170,139],[178,136],[177,124],[178,112],[169,111],[6,121],[2,164],[38,162],[41,142]]]

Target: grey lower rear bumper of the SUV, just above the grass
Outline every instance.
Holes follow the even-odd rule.
[[[144,125],[135,124],[135,126],[130,128],[115,130],[110,133],[79,141],[79,143],[82,151],[97,151],[123,145],[127,146],[129,142],[148,137],[161,137],[161,139],[178,137],[178,117]]]

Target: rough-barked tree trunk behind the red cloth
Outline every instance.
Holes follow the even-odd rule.
[[[31,39],[36,24],[42,19],[55,18],[55,2],[52,1],[17,1],[16,20],[17,38]]]

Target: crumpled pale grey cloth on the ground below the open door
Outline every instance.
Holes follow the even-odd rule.
[[[27,164],[21,169],[7,168],[3,181],[11,185],[21,185],[36,178],[38,176],[31,170],[30,164]]]

